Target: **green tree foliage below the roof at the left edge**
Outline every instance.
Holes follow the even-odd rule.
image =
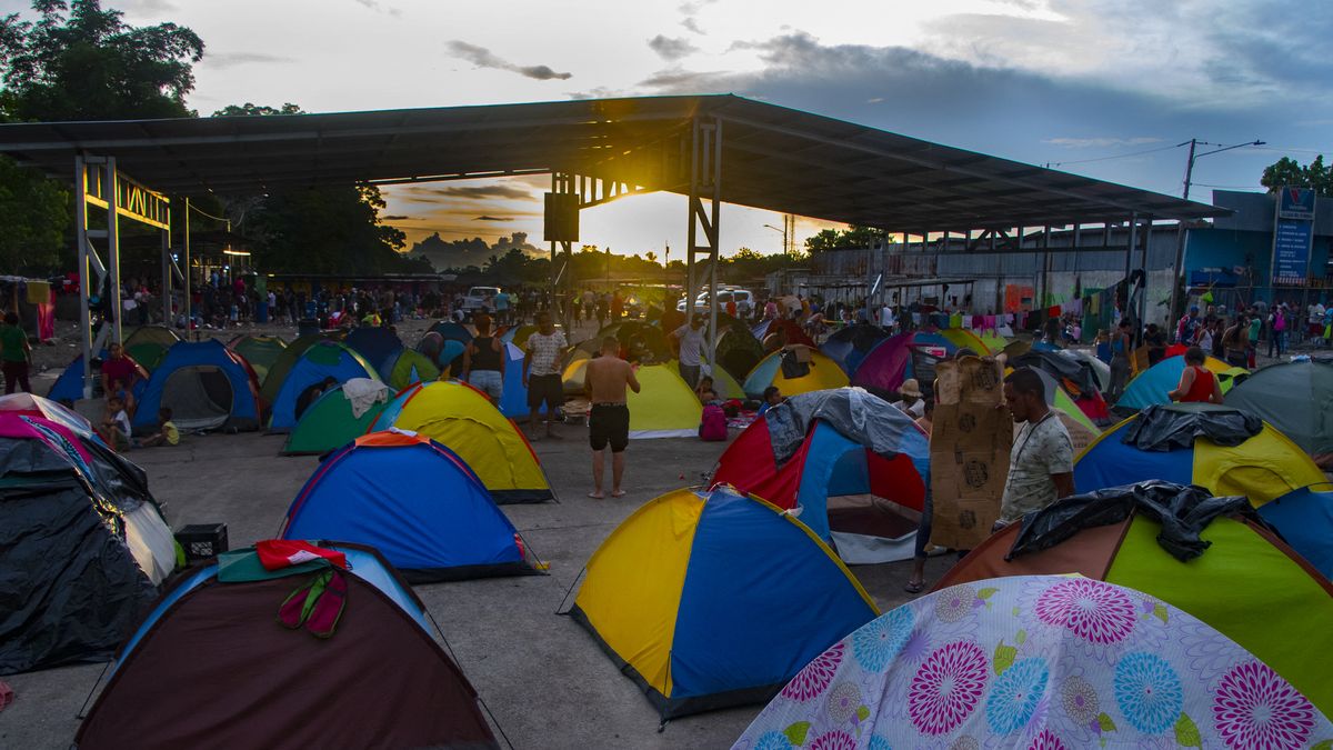
[[[57,268],[71,200],[60,183],[0,157],[0,270],[44,275]]]

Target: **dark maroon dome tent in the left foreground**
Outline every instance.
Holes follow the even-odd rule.
[[[304,577],[223,583],[200,569],[129,639],[76,745],[497,747],[420,599],[375,550],[332,546],[351,571],[331,638],[276,621]]]

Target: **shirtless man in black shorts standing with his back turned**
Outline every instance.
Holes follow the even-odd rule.
[[[589,498],[601,499],[601,478],[605,472],[607,444],[611,444],[611,496],[621,498],[620,479],[625,475],[625,446],[629,444],[629,406],[625,404],[625,386],[639,392],[635,368],[620,359],[616,336],[601,340],[601,356],[588,360],[584,392],[592,403],[588,414],[588,443],[592,446],[592,483]]]

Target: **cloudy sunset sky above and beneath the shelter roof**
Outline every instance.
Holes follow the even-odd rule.
[[[1333,155],[1333,3],[1284,0],[104,0],[207,44],[189,105],[311,112],[736,93],[1192,198],[1262,190],[1281,156]],[[0,0],[5,12],[25,4]],[[1209,147],[1200,147],[1208,151]],[[409,240],[541,236],[547,177],[388,188]],[[584,211],[584,244],[672,248],[685,199]],[[781,216],[725,207],[722,251],[781,250]],[[800,219],[797,244],[830,224]],[[539,243],[540,244],[540,243]]]

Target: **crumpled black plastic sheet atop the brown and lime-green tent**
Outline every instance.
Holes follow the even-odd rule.
[[[1022,530],[1005,559],[1054,547],[1084,528],[1120,523],[1130,512],[1141,512],[1161,523],[1157,543],[1182,562],[1202,555],[1212,544],[1201,539],[1200,532],[1220,515],[1242,515],[1262,524],[1244,496],[1214,498],[1194,484],[1150,479],[1073,495],[1024,515]]]

